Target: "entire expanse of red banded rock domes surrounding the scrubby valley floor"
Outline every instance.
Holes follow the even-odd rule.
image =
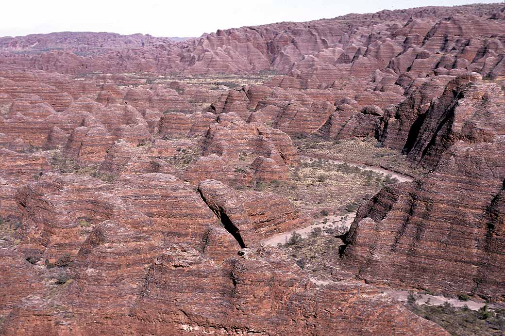
[[[370,283],[502,301],[503,13],[0,39],[0,330],[439,335]],[[262,246],[310,223],[317,198],[260,188],[300,179],[307,136],[426,173],[359,208],[323,279]]]

